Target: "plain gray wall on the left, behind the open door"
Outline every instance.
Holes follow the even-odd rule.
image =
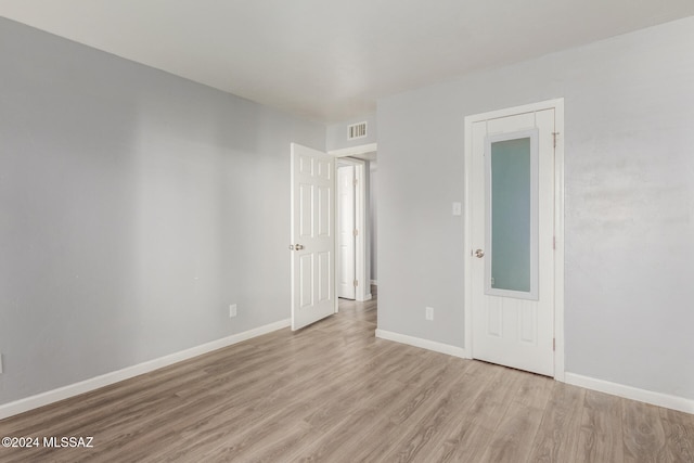
[[[290,317],[324,126],[7,20],[0,62],[0,403]]]

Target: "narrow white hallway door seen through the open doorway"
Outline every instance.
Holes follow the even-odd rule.
[[[355,166],[337,167],[337,297],[355,299]]]

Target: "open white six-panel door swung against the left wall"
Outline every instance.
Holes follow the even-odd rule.
[[[335,160],[292,143],[292,330],[335,313]]]

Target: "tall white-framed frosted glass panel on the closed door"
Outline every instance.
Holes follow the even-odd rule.
[[[486,293],[537,299],[537,130],[487,139]]]

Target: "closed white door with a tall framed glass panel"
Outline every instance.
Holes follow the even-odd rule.
[[[475,121],[473,357],[554,375],[554,108]]]

